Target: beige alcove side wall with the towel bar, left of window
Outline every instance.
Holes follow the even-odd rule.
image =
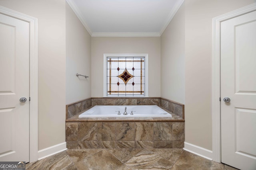
[[[66,3],[66,104],[90,97],[91,36]]]

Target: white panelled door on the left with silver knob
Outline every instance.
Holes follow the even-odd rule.
[[[20,102],[26,98],[26,102]],[[29,23],[0,14],[0,161],[29,162]]]

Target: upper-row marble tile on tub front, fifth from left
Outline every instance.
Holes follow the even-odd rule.
[[[135,140],[136,141],[153,141],[153,122],[136,122],[135,123]]]

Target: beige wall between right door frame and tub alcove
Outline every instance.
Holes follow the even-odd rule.
[[[185,140],[212,150],[212,18],[255,0],[185,1]]]

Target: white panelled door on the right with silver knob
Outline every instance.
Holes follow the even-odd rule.
[[[256,170],[256,11],[221,23],[220,55],[221,162]]]

